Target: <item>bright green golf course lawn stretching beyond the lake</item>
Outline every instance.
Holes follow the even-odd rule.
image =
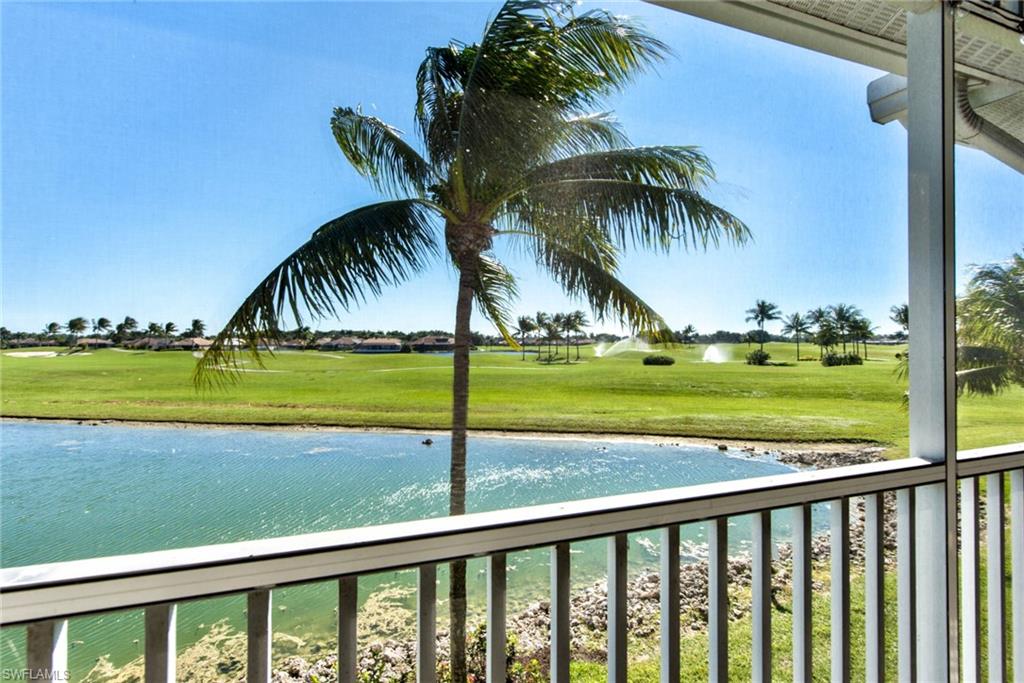
[[[741,359],[745,345],[720,345]],[[772,367],[700,362],[703,346],[677,347],[671,367],[642,353],[544,364],[527,354],[473,355],[470,424],[478,429],[646,433],[764,440],[857,440],[906,450],[898,347],[870,347],[861,367],[796,361],[768,344]],[[25,350],[25,349],[18,349]],[[445,428],[451,357],[282,352],[272,372],[197,392],[195,358],[181,351],[100,350],[59,357],[0,355],[8,417],[205,423]],[[804,344],[805,357],[817,349]],[[255,366],[249,366],[255,370]],[[1024,439],[1024,390],[961,401],[961,447]]]

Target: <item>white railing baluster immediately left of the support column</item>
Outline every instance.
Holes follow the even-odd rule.
[[[918,680],[918,592],[913,488],[896,492],[896,609],[898,680]]]

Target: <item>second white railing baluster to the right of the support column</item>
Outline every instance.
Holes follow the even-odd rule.
[[[1002,533],[1006,524],[1002,511],[1002,474],[986,477],[985,541],[988,545],[988,680],[999,683],[1007,680],[1007,607],[1004,599],[1004,567],[1006,550]]]

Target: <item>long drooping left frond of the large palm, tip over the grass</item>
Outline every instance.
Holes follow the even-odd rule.
[[[432,207],[419,200],[373,204],[317,228],[256,286],[196,366],[193,380],[209,386],[237,379],[240,351],[262,365],[260,346],[281,337],[290,315],[337,315],[404,282],[437,254]]]

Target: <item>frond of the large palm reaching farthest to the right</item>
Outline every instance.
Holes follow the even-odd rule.
[[[699,193],[630,180],[557,180],[534,185],[504,211],[520,224],[593,224],[618,248],[669,251],[743,244],[750,229]]]

